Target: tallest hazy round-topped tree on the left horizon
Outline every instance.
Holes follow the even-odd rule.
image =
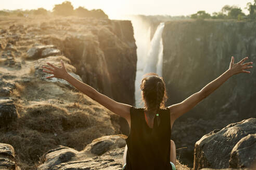
[[[72,6],[71,2],[65,1],[62,4],[56,4],[54,5],[53,12],[56,15],[60,16],[70,16],[74,13],[74,7]]]

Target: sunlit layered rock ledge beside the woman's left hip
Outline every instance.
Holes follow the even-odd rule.
[[[39,170],[48,169],[121,169],[125,135],[103,136],[92,141],[84,150],[60,146],[45,154]]]

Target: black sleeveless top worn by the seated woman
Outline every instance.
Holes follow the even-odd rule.
[[[160,109],[160,124],[157,116],[151,129],[144,116],[144,109],[132,106],[131,131],[125,139],[127,144],[125,169],[169,170],[171,122],[168,107]]]

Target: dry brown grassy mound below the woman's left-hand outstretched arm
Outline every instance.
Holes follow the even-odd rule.
[[[8,133],[0,130],[0,141],[15,148],[22,169],[36,169],[44,161],[43,154],[58,145],[83,150],[93,139],[116,133],[106,113],[89,106],[69,112],[67,108],[39,102],[19,110],[18,127],[13,123]]]

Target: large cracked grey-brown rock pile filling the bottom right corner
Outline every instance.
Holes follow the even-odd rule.
[[[204,135],[195,144],[194,169],[251,167],[256,160],[255,135],[255,118]]]

